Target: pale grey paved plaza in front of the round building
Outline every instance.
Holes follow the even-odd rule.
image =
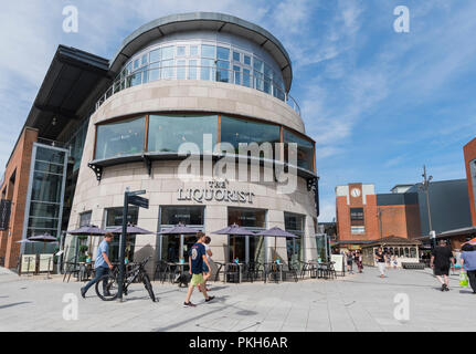
[[[82,283],[62,278],[22,277],[0,271],[0,331],[468,331],[476,329],[476,295],[451,277],[441,292],[426,270],[377,269],[338,280],[284,283],[211,283],[216,299],[204,303],[195,291],[194,309],[182,308],[186,289],[154,282],[159,302],[142,284],[133,284],[126,301],[103,302],[94,288],[84,300]],[[77,320],[67,313],[77,295]],[[406,294],[410,320],[398,321],[395,295]],[[398,296],[399,299],[399,296]],[[65,302],[63,302],[65,301]],[[68,308],[70,306],[70,308]],[[66,313],[66,316],[64,316]]]

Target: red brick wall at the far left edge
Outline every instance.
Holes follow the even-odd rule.
[[[9,228],[0,231],[0,258],[4,267],[14,268],[20,257],[18,243],[22,239],[27,194],[30,177],[33,143],[38,139],[38,129],[24,127],[7,163],[0,191],[1,199],[11,200]]]

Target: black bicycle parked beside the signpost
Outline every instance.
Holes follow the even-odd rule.
[[[149,275],[147,274],[145,267],[150,260],[150,257],[134,266],[133,269],[127,271],[124,275],[123,294],[127,295],[127,289],[136,280],[141,280],[144,287],[146,287],[152,302],[156,302],[156,295],[154,294],[152,284],[150,283]],[[119,268],[115,267],[109,274],[103,275],[96,283],[96,294],[103,301],[116,300],[119,294]]]

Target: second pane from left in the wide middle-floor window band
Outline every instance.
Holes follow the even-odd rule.
[[[203,134],[212,134],[216,144],[218,116],[150,115],[148,150],[177,153],[182,143],[195,143],[203,150]]]

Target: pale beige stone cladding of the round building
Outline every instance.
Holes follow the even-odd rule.
[[[159,230],[160,206],[204,205],[207,210],[204,228],[209,235],[228,226],[226,208],[230,206],[266,209],[267,228],[278,226],[284,229],[285,211],[304,215],[306,216],[305,259],[317,258],[314,194],[307,189],[307,183],[302,177],[297,178],[297,190],[289,195],[278,194],[275,183],[231,180],[230,189],[254,194],[253,204],[179,201],[178,190],[180,188],[203,188],[207,184],[202,180],[207,178],[202,178],[202,176],[197,176],[199,180],[194,181],[180,180],[179,162],[156,160],[152,163],[150,176],[144,163],[105,167],[102,180],[96,180],[95,174],[87,166],[94,159],[95,125],[117,117],[152,112],[230,114],[260,118],[305,133],[303,121],[293,108],[282,101],[253,88],[205,81],[158,81],[124,90],[109,97],[91,117],[68,230],[77,228],[80,214],[89,210],[92,210],[91,222],[104,226],[105,209],[123,206],[124,192],[128,187],[130,190],[147,190],[144,197],[149,199],[149,209],[139,210],[138,226],[151,231]],[[226,237],[210,236],[212,237],[213,259],[224,261]],[[97,242],[98,239],[95,240],[94,246]],[[269,252],[271,248],[274,249],[274,239],[267,240],[267,244]],[[158,247],[158,236],[137,236],[136,238],[136,253],[148,252],[157,257]],[[278,254],[283,259],[287,259],[284,239],[277,240],[277,248]],[[150,267],[152,264],[154,262],[150,262]]]

